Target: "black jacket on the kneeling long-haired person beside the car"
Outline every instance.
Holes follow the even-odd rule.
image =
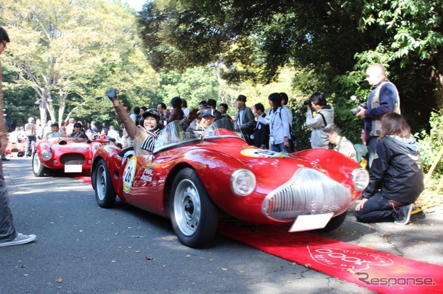
[[[380,189],[381,196],[404,203],[413,203],[423,190],[423,169],[417,142],[383,137],[370,168],[369,186],[363,197],[369,198]]]

